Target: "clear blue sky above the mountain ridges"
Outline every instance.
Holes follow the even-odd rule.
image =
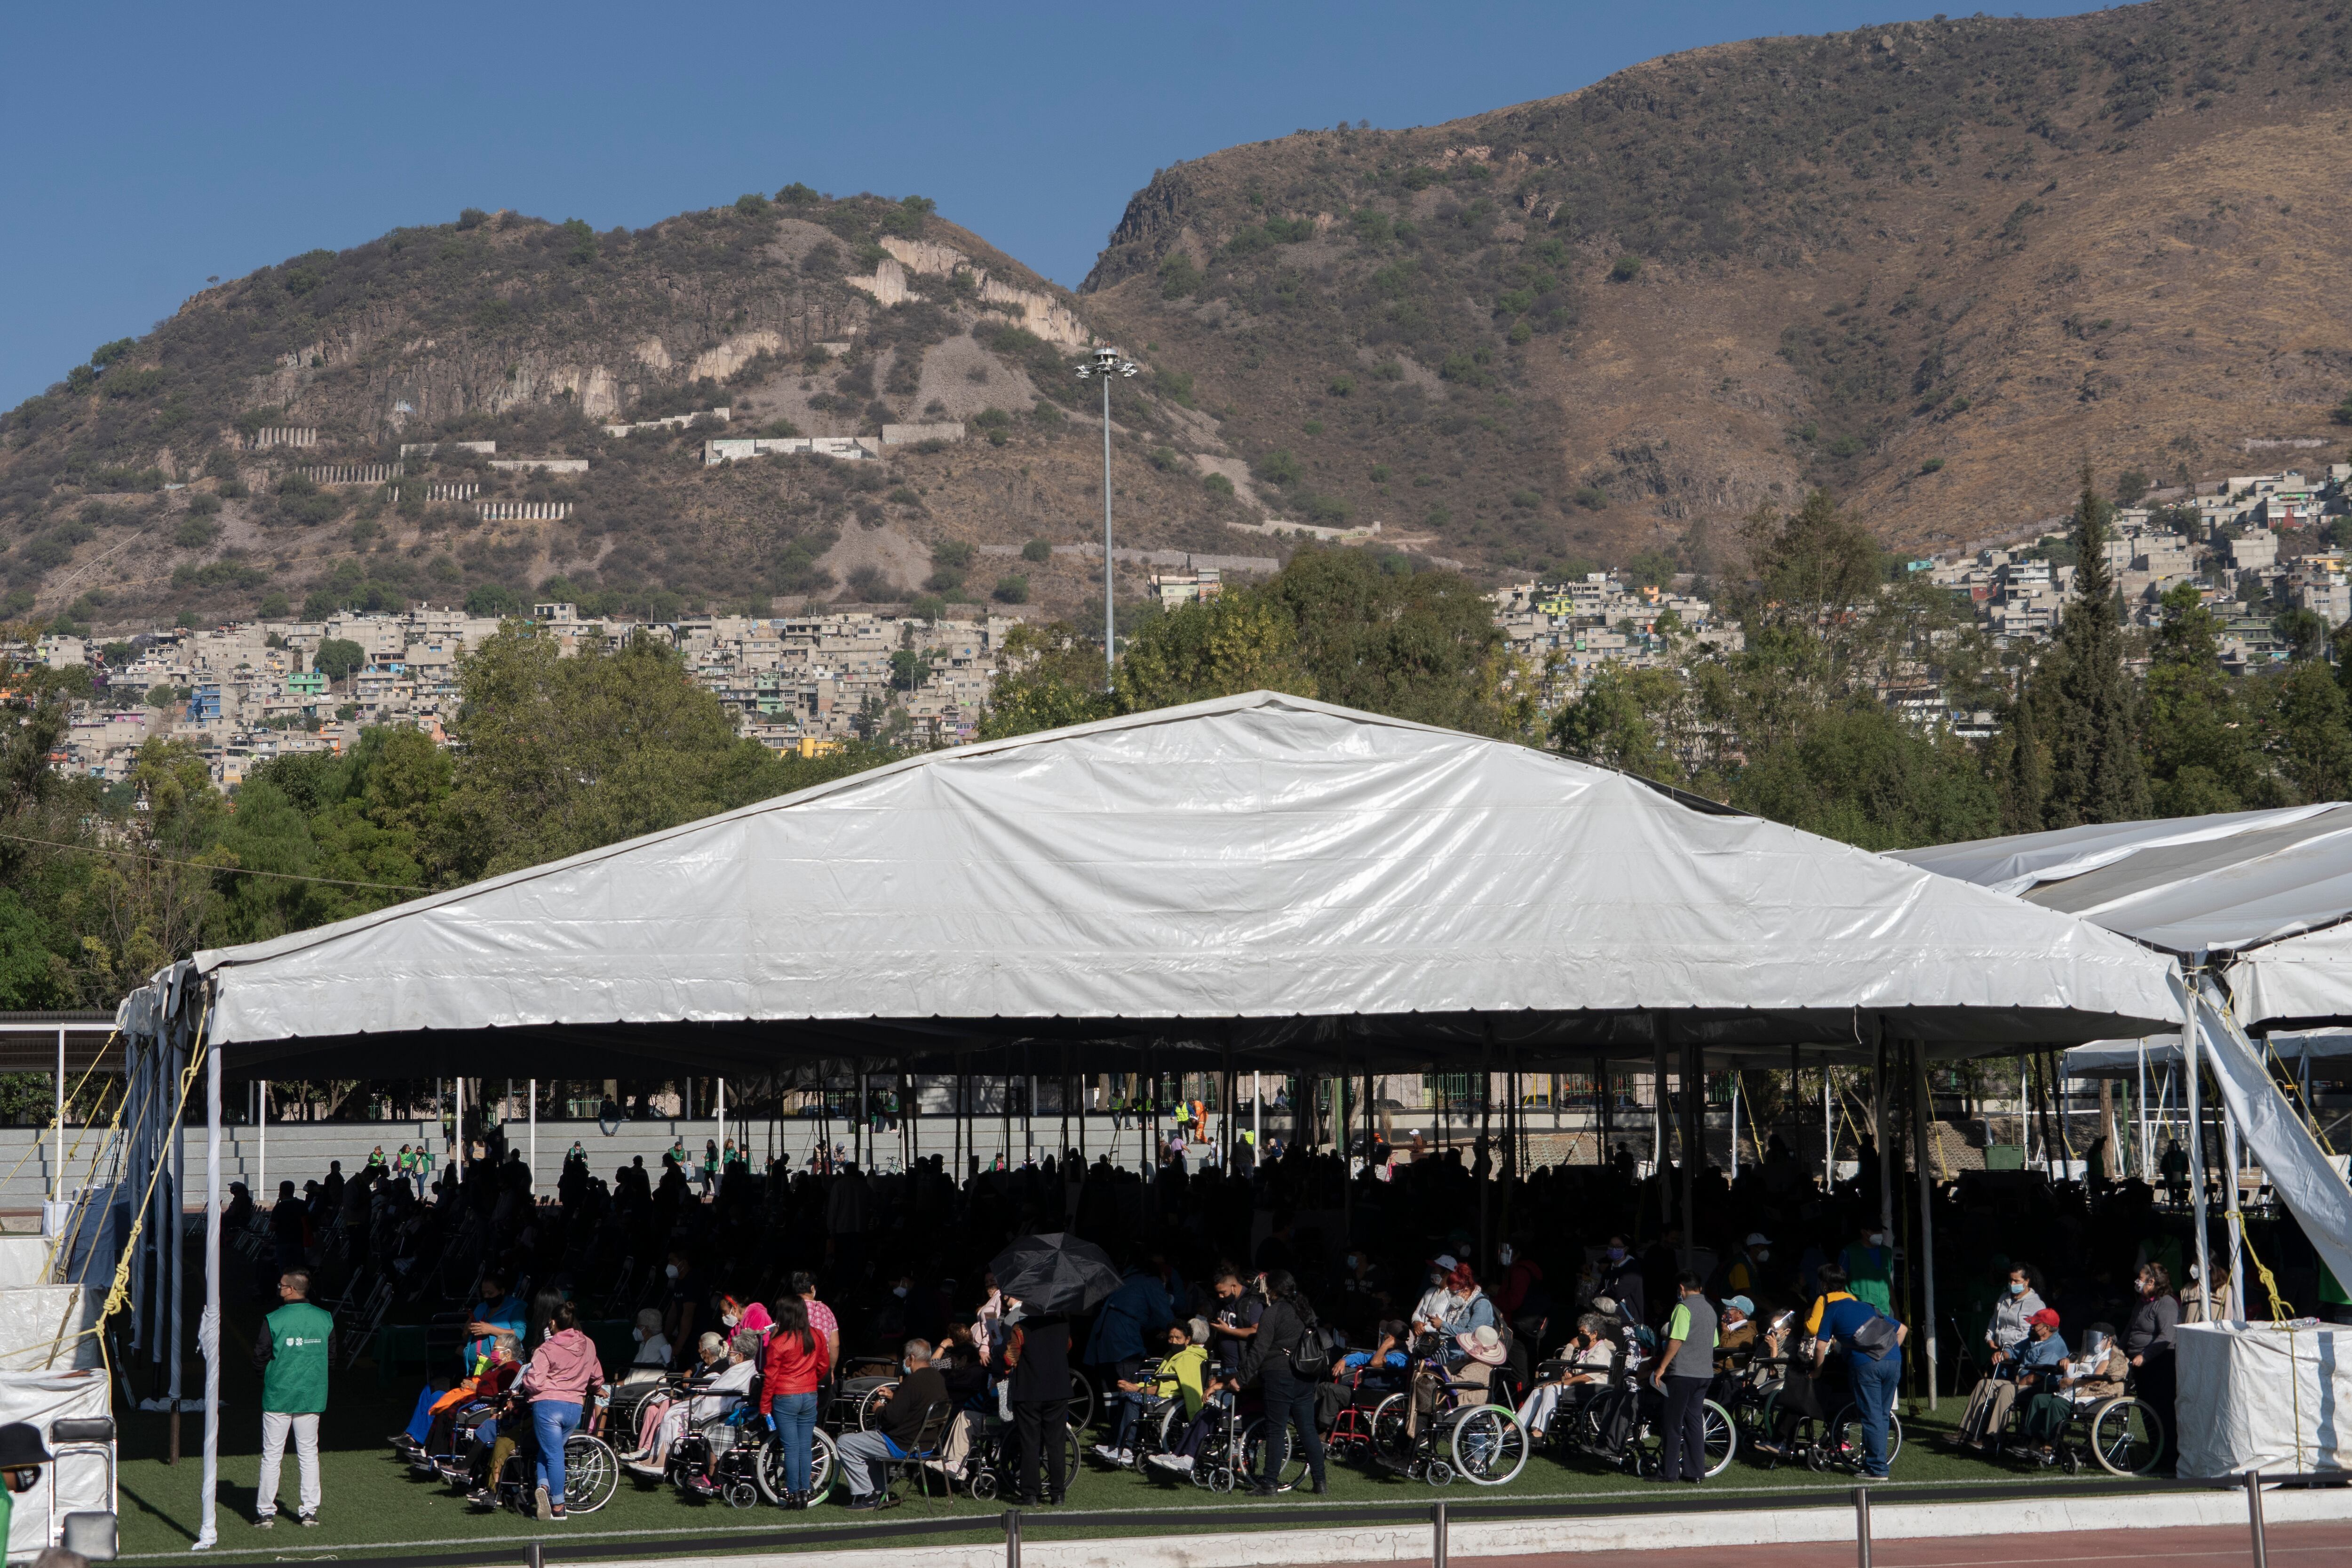
[[[1912,14],[1900,0],[19,5],[0,49],[0,407],[148,331],[212,275],[459,207],[635,228],[795,179],[922,193],[1077,284],[1160,165],[1338,120],[1435,125],[1672,49]]]

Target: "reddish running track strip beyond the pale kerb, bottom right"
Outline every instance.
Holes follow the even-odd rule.
[[[2274,1523],[2265,1533],[2281,1568],[2352,1568],[2352,1530],[2336,1521]],[[1705,1556],[1733,1556],[1705,1552]],[[1555,1552],[1529,1556],[1449,1556],[1451,1568],[1658,1568],[1656,1552]],[[1853,1542],[1738,1547],[1740,1568],[1853,1568]],[[2067,1530],[2032,1535],[1952,1535],[1938,1540],[1875,1540],[1872,1568],[2249,1568],[2249,1526],[2180,1526],[2166,1530]],[[1369,1568],[1369,1566],[1367,1566]]]

